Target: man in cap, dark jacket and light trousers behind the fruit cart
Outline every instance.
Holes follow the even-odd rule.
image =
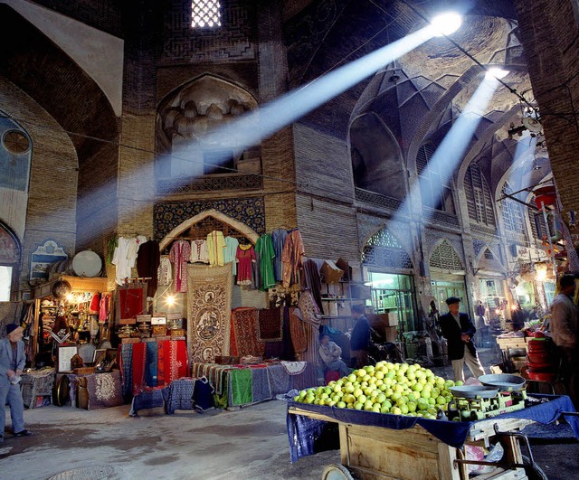
[[[460,314],[460,298],[450,296],[446,299],[449,313],[441,315],[439,322],[442,335],[448,341],[449,359],[452,362],[452,371],[455,381],[464,381],[464,363],[475,378],[484,375],[485,371],[479,361],[477,349],[472,337],[477,329],[472,324],[468,314]]]

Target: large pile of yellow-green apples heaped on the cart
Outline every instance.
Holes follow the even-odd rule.
[[[300,403],[338,409],[368,410],[436,419],[452,400],[451,387],[461,381],[445,380],[419,364],[377,362],[357,369],[326,387],[299,391]]]

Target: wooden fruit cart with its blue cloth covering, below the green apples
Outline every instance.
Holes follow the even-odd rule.
[[[539,397],[537,395],[537,397]],[[476,422],[403,417],[355,409],[336,409],[289,402],[288,438],[291,461],[325,448],[328,425],[337,424],[342,465],[360,478],[394,477],[406,480],[429,478],[468,479],[468,467],[460,464],[459,450],[465,443],[486,445],[500,440],[505,465],[493,478],[527,478],[518,442],[508,433],[533,421],[551,423],[562,412],[574,411],[568,397],[541,396],[550,401],[527,409]],[[579,438],[579,421],[565,418]],[[495,431],[495,425],[498,428]],[[326,439],[326,440],[327,440]]]

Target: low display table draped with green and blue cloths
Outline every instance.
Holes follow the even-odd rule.
[[[292,371],[292,367],[296,369]],[[310,377],[315,372],[308,362],[264,362],[251,365],[193,363],[191,371],[192,376],[206,377],[210,381],[215,389],[215,406],[223,409],[272,400],[276,395],[292,389],[314,386]]]

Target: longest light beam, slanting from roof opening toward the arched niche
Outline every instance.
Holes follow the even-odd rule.
[[[202,136],[199,142],[209,147],[230,146],[236,154],[240,154],[244,149],[260,144],[261,140],[287,127],[347,89],[351,89],[360,81],[379,71],[384,65],[411,52],[422,43],[428,42],[436,33],[436,29],[428,25],[335,71],[322,75],[306,86],[274,99],[227,125],[215,128]],[[179,152],[174,151],[174,154],[180,153],[180,156],[186,156],[185,147]]]

